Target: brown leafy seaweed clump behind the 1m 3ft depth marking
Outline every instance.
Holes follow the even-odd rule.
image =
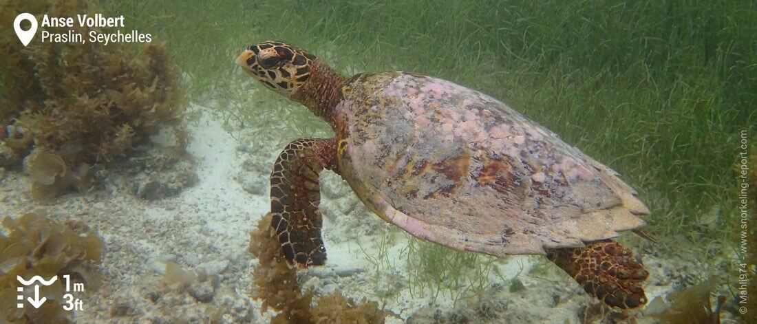
[[[71,322],[70,313],[61,307],[61,278],[70,275],[73,281],[86,282],[88,289],[95,288],[98,276],[82,265],[86,260],[100,260],[102,239],[86,226],[62,225],[36,213],[16,220],[5,217],[2,225],[8,236],[0,235],[0,322]],[[17,308],[17,276],[26,280],[58,276],[58,280],[40,289],[41,297],[47,298],[42,307]]]

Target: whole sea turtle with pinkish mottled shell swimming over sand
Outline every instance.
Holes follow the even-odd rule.
[[[382,219],[460,251],[546,254],[612,307],[640,307],[649,273],[613,238],[649,210],[618,174],[506,104],[417,73],[349,79],[307,51],[261,42],[236,59],[326,120],[333,139],[298,139],[270,176],[271,226],[285,259],[326,262],[319,173],[332,170]]]

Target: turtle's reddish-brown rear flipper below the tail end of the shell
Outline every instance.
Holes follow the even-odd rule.
[[[650,273],[616,241],[593,241],[585,248],[556,248],[547,251],[547,258],[609,306],[630,309],[646,304],[641,285]]]

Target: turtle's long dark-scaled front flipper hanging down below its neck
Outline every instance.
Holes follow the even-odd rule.
[[[271,173],[271,227],[289,265],[322,266],[320,185],[323,169],[336,171],[334,139],[298,139],[284,148]]]

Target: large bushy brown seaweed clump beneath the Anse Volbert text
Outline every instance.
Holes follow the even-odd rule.
[[[3,26],[12,26],[22,12],[35,14],[38,20],[43,14],[103,13],[89,1],[0,0]],[[78,24],[45,30],[73,30],[85,38],[91,31],[111,32]],[[165,125],[173,126],[177,145],[185,145],[180,123],[185,94],[179,87],[179,72],[157,42],[42,43],[38,36],[24,47],[14,33],[2,33],[0,57],[4,62],[0,64],[0,166],[17,165],[33,150],[42,150],[57,155],[62,163],[41,172],[79,173],[88,164],[126,156]],[[61,166],[64,170],[58,171]],[[47,189],[70,187],[64,176],[59,179],[64,183],[42,184]],[[42,192],[57,195],[61,190]]]

